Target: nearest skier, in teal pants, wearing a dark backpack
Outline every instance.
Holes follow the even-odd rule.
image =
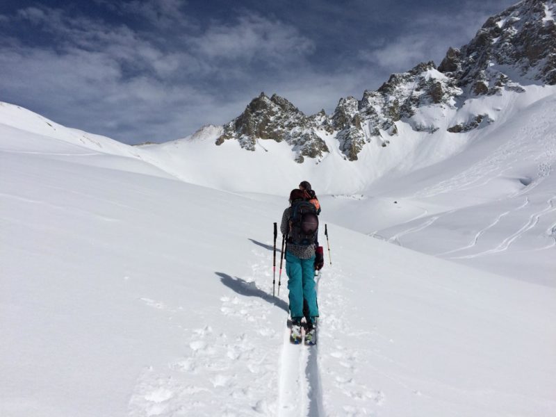
[[[315,236],[318,230],[316,208],[306,201],[306,192],[295,189],[290,193],[290,206],[284,210],[280,225],[286,236],[286,274],[292,320],[291,342],[301,343],[303,300],[306,300],[309,320],[306,323],[305,343],[316,343],[318,317],[315,288]]]

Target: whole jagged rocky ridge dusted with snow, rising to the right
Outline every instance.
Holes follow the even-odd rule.
[[[521,1],[490,17],[464,47],[450,47],[438,68],[433,62],[420,63],[408,72],[392,74],[378,90],[363,92],[361,100],[340,99],[330,116],[325,111],[306,116],[288,100],[261,93],[224,125],[216,144],[238,140],[241,147],[254,151],[261,140],[284,141],[291,145],[295,161],[302,163],[306,158],[320,161],[330,152],[324,140],[329,138],[345,159],[356,161],[368,143],[386,147],[395,140],[400,124],[434,133],[440,129],[438,118],[416,120],[420,108],[438,108],[441,115],[443,109],[457,108],[468,98],[502,90],[521,92],[520,83],[555,85],[554,17],[555,0]],[[448,131],[462,133],[491,122],[488,115],[472,115]]]

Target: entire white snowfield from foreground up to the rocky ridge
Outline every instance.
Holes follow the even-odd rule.
[[[555,91],[301,165],[0,104],[0,416],[555,416]],[[314,347],[288,343],[285,272],[272,297],[302,180],[332,254]]]

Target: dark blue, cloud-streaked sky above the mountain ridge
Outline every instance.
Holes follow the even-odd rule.
[[[261,91],[312,114],[438,65],[515,0],[0,2],[0,101],[126,143],[188,136]]]

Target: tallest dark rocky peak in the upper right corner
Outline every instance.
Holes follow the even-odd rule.
[[[439,71],[473,94],[494,94],[507,74],[556,84],[554,0],[524,0],[490,17],[461,49],[448,49]],[[509,79],[512,77],[509,76]]]

